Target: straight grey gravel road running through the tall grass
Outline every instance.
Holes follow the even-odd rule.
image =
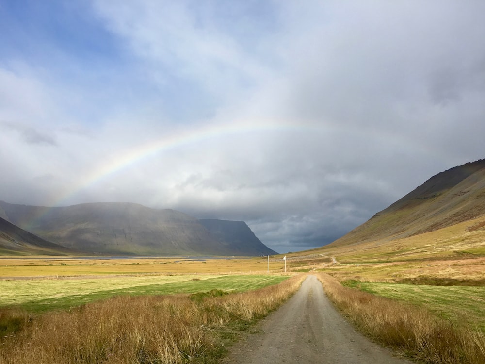
[[[315,276],[259,328],[232,347],[223,363],[411,363],[357,333],[333,308]]]

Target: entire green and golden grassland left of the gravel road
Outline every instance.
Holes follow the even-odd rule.
[[[0,259],[0,364],[214,363],[299,286],[264,258]],[[264,274],[257,274],[257,273]]]

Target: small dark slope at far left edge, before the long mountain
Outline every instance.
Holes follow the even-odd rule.
[[[0,217],[0,255],[65,255],[69,249],[20,229]]]

